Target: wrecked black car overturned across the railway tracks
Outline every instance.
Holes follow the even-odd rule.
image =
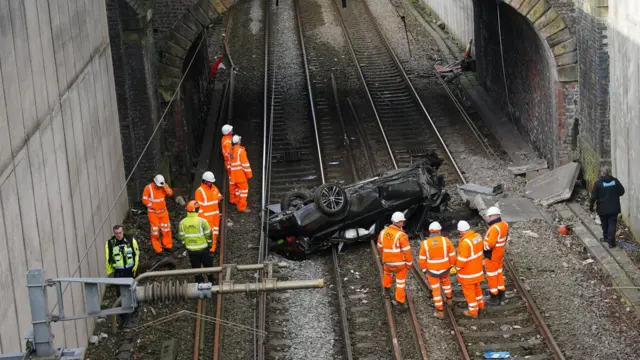
[[[334,244],[368,241],[402,211],[405,230],[419,232],[447,207],[442,160],[430,153],[409,168],[384,172],[355,184],[323,184],[313,194],[287,193],[268,218],[270,249],[290,259]]]

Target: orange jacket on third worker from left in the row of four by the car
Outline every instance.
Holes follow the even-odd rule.
[[[458,243],[458,259],[456,261],[458,282],[460,284],[476,284],[484,280],[482,248],[482,236],[473,231],[467,232],[460,239]]]

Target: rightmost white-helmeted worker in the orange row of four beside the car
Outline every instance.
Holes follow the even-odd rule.
[[[509,236],[509,224],[500,218],[500,209],[495,206],[487,209],[487,224],[489,230],[484,236],[484,267],[487,273],[487,283],[491,298],[489,304],[500,305],[505,300],[504,276],[502,275],[502,261],[504,247]]]

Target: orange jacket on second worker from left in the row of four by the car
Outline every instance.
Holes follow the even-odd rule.
[[[437,235],[420,243],[418,264],[422,271],[428,271],[430,275],[442,275],[455,263],[456,250],[448,238]]]

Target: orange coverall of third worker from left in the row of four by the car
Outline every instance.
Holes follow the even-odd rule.
[[[469,313],[478,316],[478,309],[484,309],[484,298],[480,283],[484,280],[482,271],[482,236],[469,231],[460,239],[458,244],[458,259],[456,270],[458,282],[462,285],[462,292],[469,304]]]

